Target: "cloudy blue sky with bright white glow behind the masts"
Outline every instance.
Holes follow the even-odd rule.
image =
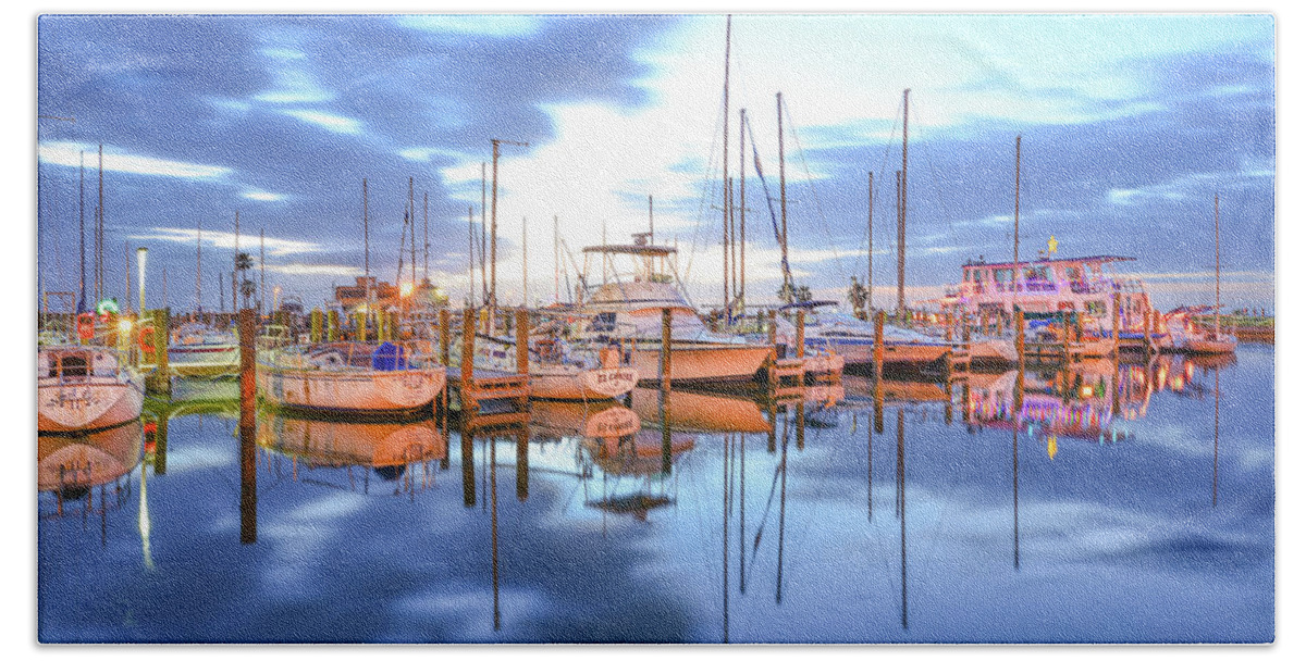
[[[752,167],[756,149],[778,215],[777,93],[795,280],[838,300],[865,280],[872,172],[875,296],[892,304],[910,89],[909,299],[942,293],[966,259],[1010,259],[1020,136],[1023,258],[1055,236],[1062,257],[1136,257],[1118,271],[1162,309],[1209,302],[1218,194],[1221,297],[1273,310],[1275,30],[1268,14],[734,16],[731,177],[741,107],[756,141],[750,304],[774,302],[781,279]],[[46,289],[77,289],[78,163],[89,229],[103,145],[111,295],[124,246],[146,246],[149,304],[166,269],[167,302],[193,309],[202,226],[215,308],[239,211],[243,250],[257,259],[265,235],[268,288],[320,305],[363,272],[364,177],[368,266],[393,282],[413,177],[430,276],[461,301],[468,210],[479,224],[500,138],[529,143],[500,151],[500,302],[522,300],[524,229],[528,302],[551,302],[554,216],[579,263],[644,231],[653,196],[691,300],[720,305],[725,16],[47,14],[37,39],[38,113],[76,117],[37,126]],[[423,261],[419,246],[419,278]]]

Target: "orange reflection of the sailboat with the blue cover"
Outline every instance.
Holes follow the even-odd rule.
[[[266,468],[278,478],[370,492],[371,473],[393,484],[393,493],[421,492],[434,477],[431,462],[448,454],[435,419],[415,422],[342,422],[264,411],[257,443],[269,452]],[[362,468],[355,476],[354,468]],[[300,475],[307,472],[311,475]]]

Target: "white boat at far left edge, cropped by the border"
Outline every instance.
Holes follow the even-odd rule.
[[[37,349],[37,432],[72,433],[136,420],[145,379],[121,353],[97,345]]]

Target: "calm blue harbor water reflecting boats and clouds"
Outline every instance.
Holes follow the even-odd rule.
[[[656,391],[474,435],[261,412],[256,503],[234,386],[189,387],[39,439],[39,639],[1268,641],[1273,386],[1247,344],[1030,369],[1015,425],[1015,373],[880,407],[849,375],[774,424]]]

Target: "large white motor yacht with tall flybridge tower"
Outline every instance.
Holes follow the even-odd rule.
[[[603,276],[592,292],[586,291],[581,306],[585,322],[573,336],[622,345],[623,362],[639,372],[640,381],[656,382],[661,375],[662,310],[669,309],[673,383],[754,379],[772,347],[709,331],[674,284],[677,276],[670,259],[675,253],[675,248],[650,244],[648,233],[635,235],[632,245],[585,248],[584,282],[592,282],[589,261],[593,256],[599,258]],[[633,269],[624,274],[618,271],[613,263],[616,258],[628,258]]]

